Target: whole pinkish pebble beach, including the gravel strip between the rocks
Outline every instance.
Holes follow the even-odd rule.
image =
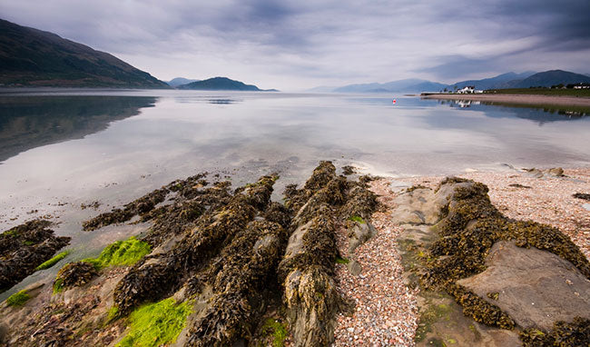
[[[535,177],[518,170],[459,173],[457,177],[486,184],[491,203],[509,218],[558,228],[590,259],[590,212],[582,207],[588,202],[572,196],[590,191],[590,167],[566,168],[563,177]],[[403,270],[401,243],[408,226],[398,225],[391,215],[398,207],[397,198],[408,188],[422,185],[435,189],[444,179],[444,175],[383,177],[370,184],[387,209],[373,214],[378,235],[351,257],[362,266],[361,276],[353,276],[344,265],[337,267],[339,292],[359,310],[352,316],[339,315],[335,346],[425,345],[426,341],[414,340],[424,302],[418,289],[409,288]],[[341,231],[342,251],[345,239],[346,231]]]

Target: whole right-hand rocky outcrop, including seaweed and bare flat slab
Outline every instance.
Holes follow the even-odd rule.
[[[434,192],[419,188],[405,195],[398,198],[403,205],[394,215],[406,223],[400,244],[405,266],[414,273],[408,278],[422,287],[423,312],[437,301],[452,312],[453,305],[440,303],[446,292],[466,316],[508,332],[536,329],[548,336],[556,321],[588,318],[584,297],[590,290],[590,263],[564,233],[506,218],[490,203],[482,183],[447,178]],[[439,209],[436,219],[433,206]],[[428,223],[418,215],[432,219]],[[441,320],[424,322],[418,335],[428,343],[454,334],[474,345],[486,340],[489,345],[506,343],[506,331],[477,323],[469,325],[477,334],[466,340],[469,333],[461,329],[467,323],[453,320],[454,327]],[[510,334],[511,339],[517,335]]]

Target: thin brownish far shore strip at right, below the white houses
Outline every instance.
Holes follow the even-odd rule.
[[[506,104],[534,104],[534,105],[564,105],[564,106],[588,106],[590,97],[551,96],[531,94],[428,94],[422,95],[423,99],[436,100],[470,100],[486,103]]]

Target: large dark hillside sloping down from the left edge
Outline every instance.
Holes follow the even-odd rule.
[[[2,19],[0,85],[170,88],[113,55]]]

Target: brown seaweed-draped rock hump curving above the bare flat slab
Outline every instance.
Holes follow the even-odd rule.
[[[590,278],[590,263],[569,237],[548,225],[506,218],[490,203],[486,185],[441,183],[437,194],[446,194],[448,203],[437,224],[441,238],[429,247],[435,261],[428,264],[428,281],[448,283],[481,273],[492,245],[502,240],[555,253]]]

